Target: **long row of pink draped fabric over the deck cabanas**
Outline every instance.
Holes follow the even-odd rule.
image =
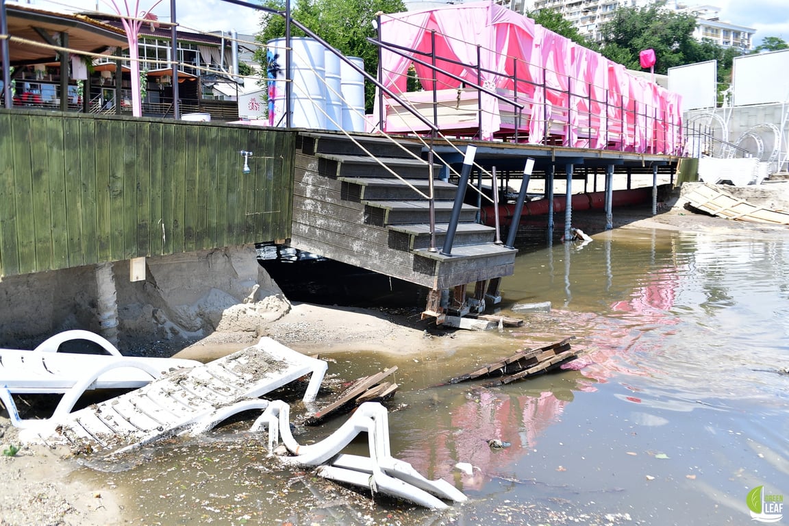
[[[385,43],[414,50],[407,56],[382,51],[382,81],[395,92],[406,91],[411,58],[430,62],[435,51],[438,67],[463,79],[436,73],[437,89],[481,84],[525,104],[529,143],[540,144],[552,123],[567,146],[612,143],[670,154],[681,148],[678,96],[503,6],[481,2],[394,13],[381,18],[380,30]],[[432,90],[432,69],[414,68],[422,88]],[[482,93],[480,106],[477,124],[482,138],[491,139],[501,128],[499,99]]]

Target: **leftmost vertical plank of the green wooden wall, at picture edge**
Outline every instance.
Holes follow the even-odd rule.
[[[10,114],[0,114],[0,130],[7,130],[0,133],[0,277],[19,274],[20,268],[12,124]]]

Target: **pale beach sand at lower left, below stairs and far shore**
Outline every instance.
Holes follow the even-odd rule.
[[[761,233],[785,236],[787,226],[731,222],[697,215],[682,203],[655,217],[646,209],[615,214],[616,228],[675,229],[688,231],[754,229]],[[600,231],[600,213],[577,214],[574,220],[587,225],[593,235]],[[293,304],[285,315],[265,323],[264,334],[222,332],[189,345],[178,357],[208,361],[252,344],[262,335],[271,336],[301,353],[331,353],[372,349],[382,353],[409,353],[412,349],[439,349],[443,345],[469,345],[483,335],[464,330],[443,330],[420,322],[413,311],[387,312],[360,308],[331,308],[312,304]],[[16,428],[0,413],[0,450],[19,446]],[[112,487],[86,484],[74,471],[79,465],[69,451],[22,446],[14,456],[0,458],[0,476],[5,480],[0,492],[0,525],[63,524],[84,526],[127,524],[122,500]]]

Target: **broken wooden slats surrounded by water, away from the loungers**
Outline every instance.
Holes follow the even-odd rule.
[[[562,341],[557,341],[538,349],[522,349],[512,356],[487,364],[476,371],[448,379],[441,385],[496,378],[495,382],[484,385],[486,387],[500,386],[542,372],[548,372],[578,357],[579,352],[570,349],[570,341],[574,339],[574,336],[570,336]]]

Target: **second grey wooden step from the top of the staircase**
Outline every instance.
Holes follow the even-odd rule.
[[[316,154],[322,165],[322,172],[330,177],[393,177],[389,170],[381,166],[377,159],[372,159],[366,155],[336,155],[336,154]],[[335,167],[327,164],[335,163]],[[427,179],[430,175],[428,165],[420,159],[385,159],[386,166],[397,173],[403,179]],[[433,166],[433,173],[438,174],[441,165]]]

